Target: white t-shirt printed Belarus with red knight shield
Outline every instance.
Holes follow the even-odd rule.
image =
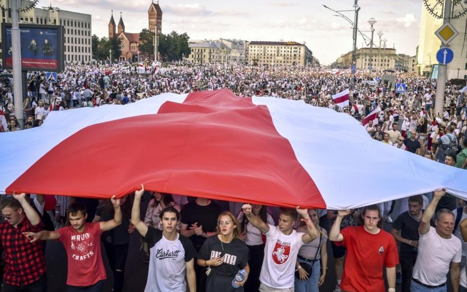
[[[285,235],[278,226],[269,225],[266,233],[265,258],[260,282],[275,289],[287,289],[295,285],[295,262],[304,233],[292,231]]]

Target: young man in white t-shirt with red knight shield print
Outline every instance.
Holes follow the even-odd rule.
[[[308,210],[281,209],[279,225],[266,224],[260,217],[252,213],[252,206],[244,204],[243,213],[254,227],[266,235],[265,257],[260,274],[260,292],[293,292],[295,287],[295,262],[300,247],[319,236],[308,215]],[[294,230],[297,213],[307,223],[308,233]]]

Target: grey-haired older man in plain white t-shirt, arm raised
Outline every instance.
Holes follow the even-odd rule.
[[[453,291],[459,291],[459,263],[462,256],[462,244],[459,238],[453,236],[454,214],[448,209],[436,212],[434,225],[430,221],[441,197],[446,191],[433,192],[433,200],[423,213],[418,232],[418,255],[412,273],[410,291],[427,291],[426,288],[437,291],[447,291],[447,274],[451,274]]]

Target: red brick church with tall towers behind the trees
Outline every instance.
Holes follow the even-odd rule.
[[[159,1],[151,3],[148,9],[148,29],[152,33],[160,34],[162,32],[162,10],[159,6]],[[109,38],[118,37],[122,41],[122,55],[119,57],[119,61],[130,61],[137,62],[138,60],[138,45],[139,45],[139,32],[125,32],[125,24],[123,23],[122,13],[120,12],[120,21],[118,25],[115,25],[112,16],[109,22]],[[154,59],[154,55],[147,55],[140,52],[139,61],[144,59]]]

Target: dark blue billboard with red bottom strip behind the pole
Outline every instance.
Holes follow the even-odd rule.
[[[56,71],[63,70],[63,27],[53,25],[20,24],[22,70]],[[3,23],[2,58],[3,67],[13,65],[11,24]]]

